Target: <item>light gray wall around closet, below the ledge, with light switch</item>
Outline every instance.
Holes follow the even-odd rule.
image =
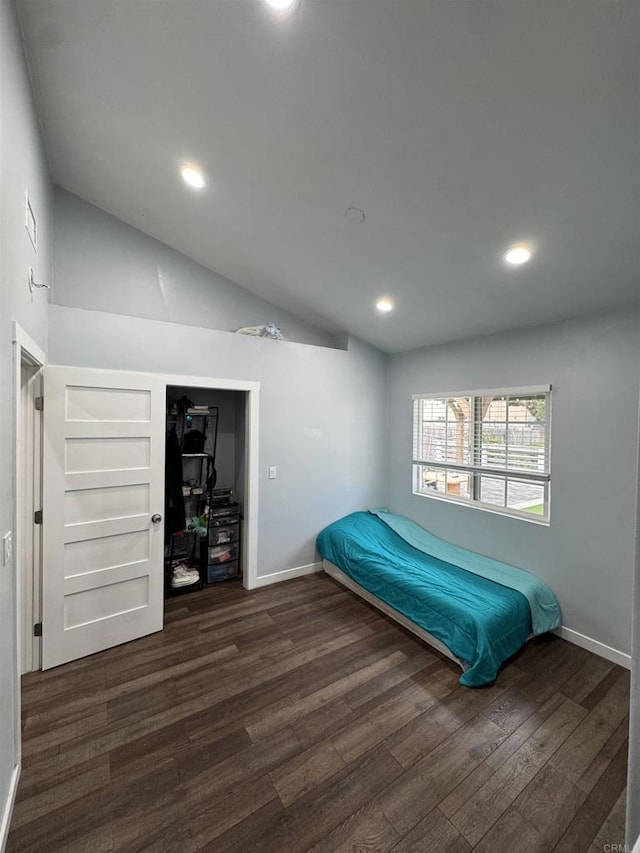
[[[323,526],[384,502],[385,356],[357,340],[334,350],[52,306],[49,359],[261,383],[259,575],[314,562]]]

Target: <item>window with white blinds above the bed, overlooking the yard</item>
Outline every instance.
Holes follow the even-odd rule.
[[[551,388],[413,398],[413,493],[549,520]]]

